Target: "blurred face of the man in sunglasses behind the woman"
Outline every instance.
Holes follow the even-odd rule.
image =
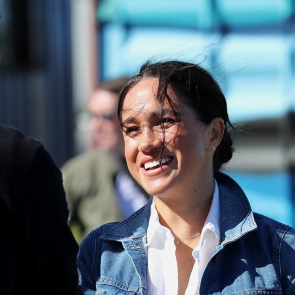
[[[119,97],[105,90],[96,91],[89,103],[94,146],[105,151],[124,152],[122,128],[117,119]]]

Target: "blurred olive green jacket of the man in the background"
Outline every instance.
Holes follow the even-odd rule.
[[[128,171],[124,158],[94,150],[68,160],[61,170],[71,227],[75,226],[73,233],[78,242],[103,223],[124,219],[114,183],[119,171]]]

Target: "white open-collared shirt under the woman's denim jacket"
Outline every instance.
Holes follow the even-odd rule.
[[[192,251],[195,259],[185,295],[199,294],[199,282],[212,252],[219,245],[219,190],[215,189],[209,214],[202,228],[200,242]],[[178,267],[174,237],[167,227],[159,222],[153,200],[151,216],[147,227],[147,295],[177,295]]]

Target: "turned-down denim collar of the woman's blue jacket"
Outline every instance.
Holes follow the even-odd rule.
[[[249,201],[240,186],[222,172],[218,172],[215,179],[218,183],[220,197],[220,241],[224,246],[239,239],[247,232],[256,230],[257,225]],[[134,243],[136,241],[140,243],[143,240],[145,245],[151,204],[152,197],[143,208],[124,221],[115,224],[100,238],[121,241],[123,245],[127,240]]]

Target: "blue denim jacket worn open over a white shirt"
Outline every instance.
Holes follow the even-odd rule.
[[[251,211],[237,183],[219,172],[221,243],[200,279],[200,294],[295,294],[295,230]],[[146,294],[146,229],[152,198],[128,219],[82,241],[78,268],[90,294]]]

